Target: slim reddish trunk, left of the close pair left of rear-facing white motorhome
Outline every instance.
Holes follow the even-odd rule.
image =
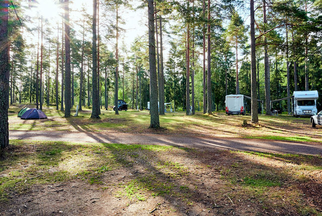
[[[202,29],[202,48],[203,48],[203,114],[207,113],[207,87],[206,87],[206,80],[207,80],[207,74],[206,74],[206,25],[205,25],[205,11],[206,11],[206,3],[205,0],[202,1],[202,13],[203,13],[203,29]],[[227,79],[226,79],[227,81]],[[226,93],[227,94],[227,93]]]

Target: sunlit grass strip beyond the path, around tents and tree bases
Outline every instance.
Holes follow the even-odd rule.
[[[32,107],[32,105],[29,105]],[[10,130],[46,130],[74,132],[124,132],[124,133],[163,133],[196,136],[241,137],[250,139],[288,140],[299,142],[322,142],[321,126],[311,128],[309,118],[291,116],[259,116],[259,125],[243,125],[243,120],[250,122],[250,116],[226,116],[214,113],[213,116],[186,116],[185,113],[167,113],[160,116],[162,130],[148,129],[150,117],[147,111],[101,110],[100,120],[91,120],[91,110],[85,108],[78,117],[64,118],[64,113],[56,111],[54,106],[44,107],[46,120],[21,120],[17,117],[23,105],[10,106]],[[75,110],[72,110],[72,115]]]

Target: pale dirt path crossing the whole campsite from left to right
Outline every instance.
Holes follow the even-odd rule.
[[[93,132],[10,131],[10,139],[82,143],[154,144],[192,148],[216,148],[269,153],[322,155],[321,144],[240,138],[182,137],[159,134]]]

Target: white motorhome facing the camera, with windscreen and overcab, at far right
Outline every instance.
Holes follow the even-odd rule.
[[[314,91],[294,91],[294,116],[314,116],[317,114],[316,99],[317,90]]]

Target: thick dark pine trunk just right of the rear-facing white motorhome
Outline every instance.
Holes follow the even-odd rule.
[[[255,46],[255,12],[254,12],[254,0],[251,0],[251,64],[252,64],[252,123],[258,123],[258,102],[256,92],[256,46]]]

